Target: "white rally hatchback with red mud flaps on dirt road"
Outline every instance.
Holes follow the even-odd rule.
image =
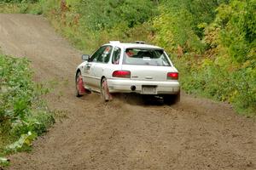
[[[76,95],[102,94],[105,101],[115,93],[137,93],[179,101],[178,71],[163,48],[144,42],[109,42],[94,54],[82,55],[76,70]]]

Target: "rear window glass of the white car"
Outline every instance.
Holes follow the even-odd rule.
[[[124,65],[170,66],[164,50],[152,48],[126,48]]]

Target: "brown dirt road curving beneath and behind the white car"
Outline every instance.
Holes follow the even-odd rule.
[[[9,169],[255,169],[255,122],[230,105],[182,95],[178,105],[104,104],[74,96],[80,53],[41,16],[0,14],[4,53],[32,60],[38,82],[57,83],[47,99],[68,118],[11,156]],[[126,100],[127,101],[127,100]]]

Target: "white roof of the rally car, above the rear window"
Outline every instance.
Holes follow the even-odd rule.
[[[158,46],[146,44],[146,43],[139,43],[139,42],[134,42],[134,43],[127,43],[127,42],[118,42],[118,41],[113,41],[109,42],[104,45],[113,45],[115,47],[119,48],[154,48],[154,49],[163,49]]]

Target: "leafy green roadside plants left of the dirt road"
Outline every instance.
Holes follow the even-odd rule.
[[[4,158],[21,150],[30,150],[32,141],[55,122],[41,95],[47,90],[32,82],[26,58],[0,54],[0,167]]]

